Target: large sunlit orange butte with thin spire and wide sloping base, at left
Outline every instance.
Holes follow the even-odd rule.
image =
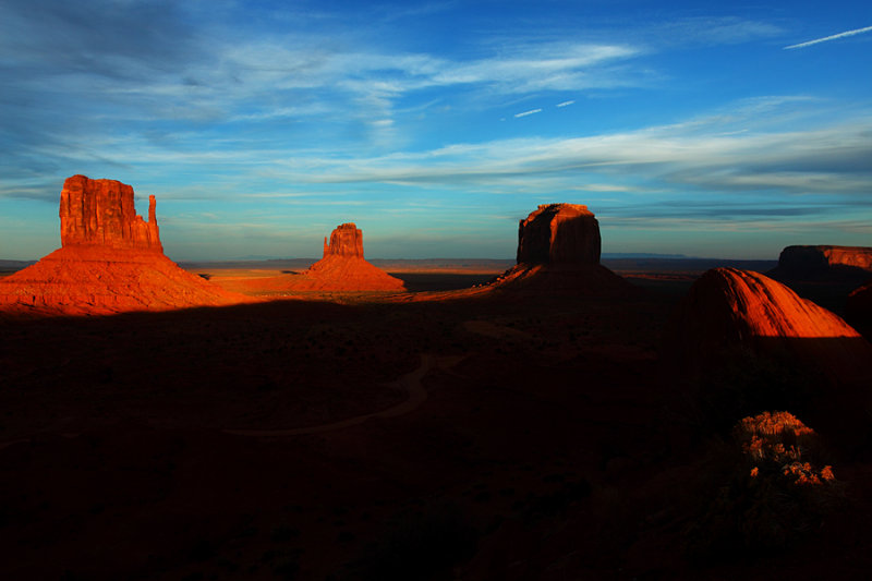
[[[0,311],[111,314],[251,301],[167,258],[155,196],[148,202],[145,221],[136,215],[130,185],[68,178],[60,198],[61,247],[0,280]]]

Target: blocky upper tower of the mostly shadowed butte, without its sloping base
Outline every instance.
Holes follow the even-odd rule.
[[[518,264],[600,264],[600,222],[579,204],[543,204],[518,228]]]

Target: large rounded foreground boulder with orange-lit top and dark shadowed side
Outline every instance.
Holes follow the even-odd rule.
[[[700,277],[664,355],[695,378],[704,421],[722,426],[773,408],[807,412],[827,427],[859,426],[872,403],[872,344],[759,273],[714,268]]]

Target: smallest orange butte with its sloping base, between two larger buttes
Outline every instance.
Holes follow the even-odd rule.
[[[324,257],[308,269],[282,282],[286,290],[315,291],[402,291],[403,281],[363,257],[363,232],[354,223],[343,223],[324,239]]]

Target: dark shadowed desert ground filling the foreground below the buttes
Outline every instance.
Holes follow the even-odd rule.
[[[659,364],[678,294],[2,319],[0,572],[862,578],[869,443],[831,446],[826,509],[735,496],[729,427]],[[748,375],[708,383],[814,389]],[[737,510],[751,536],[724,532]],[[784,534],[754,536],[773,522]]]

